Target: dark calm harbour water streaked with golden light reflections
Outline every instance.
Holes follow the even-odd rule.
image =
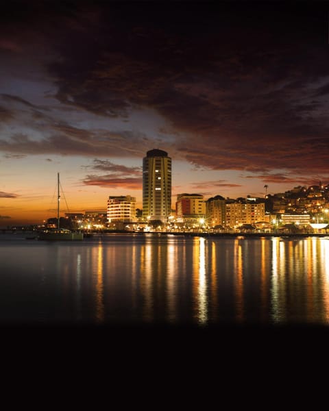
[[[327,238],[0,234],[1,324],[329,323]]]

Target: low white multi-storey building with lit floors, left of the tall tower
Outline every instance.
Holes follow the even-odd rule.
[[[136,197],[110,196],[108,197],[108,222],[125,221],[131,223],[136,220]]]

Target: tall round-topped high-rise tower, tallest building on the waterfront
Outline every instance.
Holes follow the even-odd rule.
[[[153,149],[143,158],[143,216],[166,223],[171,213],[171,158]]]

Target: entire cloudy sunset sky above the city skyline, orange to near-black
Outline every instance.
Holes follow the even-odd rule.
[[[328,4],[8,1],[0,14],[0,226],[141,208],[143,157],[181,192],[329,183]]]

